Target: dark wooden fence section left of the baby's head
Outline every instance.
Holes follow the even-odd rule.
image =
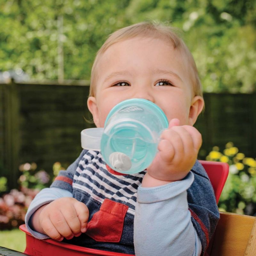
[[[17,186],[19,165],[35,162],[52,174],[59,161],[65,167],[81,152],[80,131],[85,122],[88,86],[8,84],[4,87],[4,141],[0,176]]]

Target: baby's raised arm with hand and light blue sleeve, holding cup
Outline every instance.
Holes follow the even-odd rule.
[[[192,126],[172,119],[138,189],[134,220],[136,255],[200,255],[201,242],[188,210],[190,172],[202,143]]]

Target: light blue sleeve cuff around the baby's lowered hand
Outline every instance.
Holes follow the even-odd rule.
[[[31,204],[29,205],[28,212],[25,216],[26,228],[32,236],[38,239],[49,238],[49,236],[38,233],[31,228],[31,217],[33,213],[35,213],[36,210],[40,208],[42,205],[49,204],[53,200],[61,197],[72,197],[72,193],[62,188],[44,188],[35,196]]]

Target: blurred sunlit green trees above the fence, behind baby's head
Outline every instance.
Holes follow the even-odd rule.
[[[0,1],[0,70],[22,68],[31,78],[57,79],[59,45],[64,79],[88,80],[109,33],[159,20],[185,32],[204,91],[255,91],[254,0]]]

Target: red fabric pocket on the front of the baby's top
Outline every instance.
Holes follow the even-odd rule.
[[[127,210],[127,205],[105,199],[88,223],[86,234],[99,242],[119,242]]]

